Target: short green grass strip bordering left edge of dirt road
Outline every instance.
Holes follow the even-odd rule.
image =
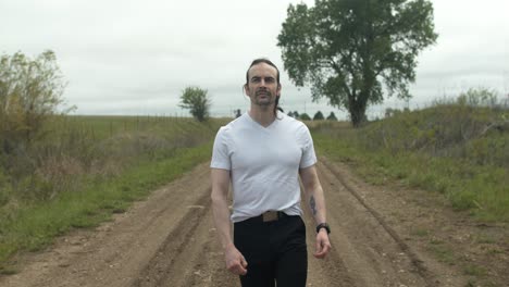
[[[0,273],[15,273],[15,254],[37,251],[72,228],[92,227],[124,212],[133,201],[210,158],[211,142],[176,150],[173,157],[139,164],[108,180],[90,182],[78,192],[17,210],[0,222]]]

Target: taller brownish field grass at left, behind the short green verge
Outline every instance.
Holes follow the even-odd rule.
[[[117,175],[141,160],[164,159],[179,148],[210,141],[220,123],[171,117],[54,117],[38,140],[0,154],[0,209],[13,200],[49,200],[83,182]]]

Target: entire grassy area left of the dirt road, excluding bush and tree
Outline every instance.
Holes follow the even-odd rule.
[[[0,154],[0,272],[73,227],[94,226],[210,158],[228,120],[60,116]]]

